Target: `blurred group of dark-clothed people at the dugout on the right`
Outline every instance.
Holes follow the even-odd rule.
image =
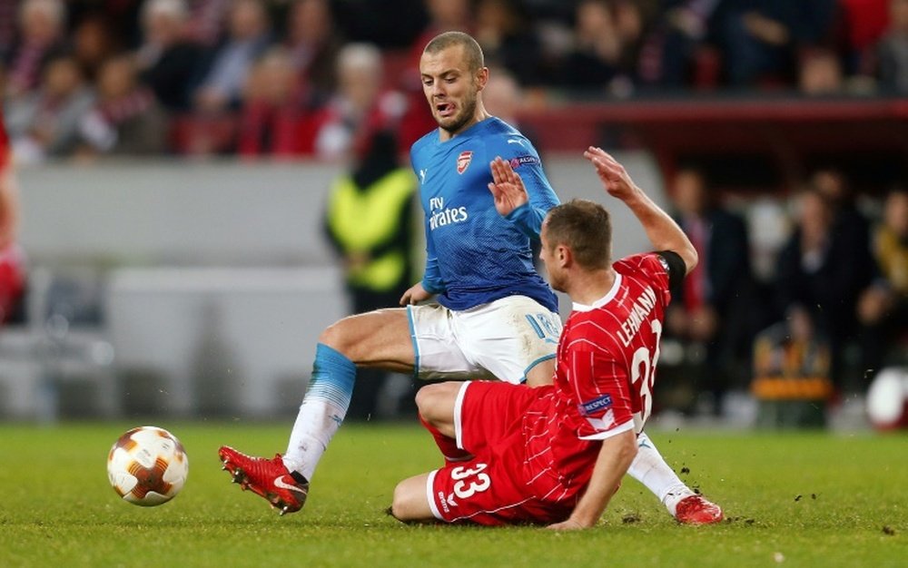
[[[727,414],[725,397],[749,390],[820,408],[822,426],[824,405],[908,366],[908,187],[858,199],[822,167],[787,201],[734,207],[715,189],[695,167],[669,181],[700,263],[666,313],[681,348],[660,359],[665,406]]]

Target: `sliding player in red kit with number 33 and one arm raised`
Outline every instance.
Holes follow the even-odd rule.
[[[575,200],[548,212],[539,258],[552,288],[574,309],[558,343],[554,385],[530,388],[469,381],[423,387],[423,424],[446,465],[397,486],[401,521],[597,523],[637,455],[652,406],[669,289],[696,266],[696,251],[674,220],[598,148],[584,154],[608,193],[640,220],[658,252],[611,263],[604,207]],[[518,174],[498,159],[489,189],[517,207]]]

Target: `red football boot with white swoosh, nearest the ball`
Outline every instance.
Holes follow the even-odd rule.
[[[309,482],[298,481],[283,465],[281,455],[274,459],[245,455],[230,446],[218,450],[225,469],[233,476],[233,483],[243,491],[252,490],[262,495],[281,515],[299,511],[309,495]]]

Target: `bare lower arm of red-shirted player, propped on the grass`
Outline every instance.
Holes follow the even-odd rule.
[[[595,525],[605,512],[612,495],[615,495],[621,478],[627,474],[627,468],[636,455],[637,436],[633,430],[603,440],[587,491],[580,497],[574,512],[567,521],[549,524],[548,528],[571,531]]]

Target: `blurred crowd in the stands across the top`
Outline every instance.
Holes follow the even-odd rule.
[[[528,104],[557,95],[908,93],[908,0],[0,0],[19,162],[337,158],[433,125],[419,53],[474,34]]]

